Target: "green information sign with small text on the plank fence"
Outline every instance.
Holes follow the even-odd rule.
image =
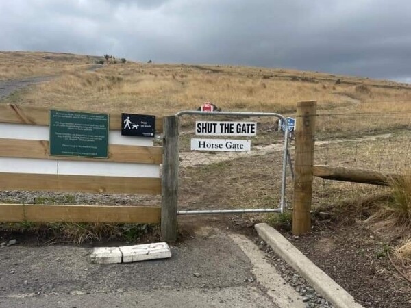
[[[50,110],[50,155],[108,157],[108,114]]]

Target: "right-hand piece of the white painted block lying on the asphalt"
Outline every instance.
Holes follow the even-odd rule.
[[[123,263],[164,259],[171,257],[170,247],[166,242],[119,247],[123,253]]]

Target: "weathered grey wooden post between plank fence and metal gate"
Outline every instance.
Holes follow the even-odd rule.
[[[161,238],[166,242],[177,240],[177,201],[179,166],[179,120],[177,116],[166,116],[163,120],[163,168],[161,203]]]

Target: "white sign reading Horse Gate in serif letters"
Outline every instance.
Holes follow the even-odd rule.
[[[191,140],[191,151],[250,151],[251,140],[197,139]]]

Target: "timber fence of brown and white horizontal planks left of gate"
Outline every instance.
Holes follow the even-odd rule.
[[[122,136],[120,113],[109,117],[107,159],[50,155],[50,116],[49,108],[0,105],[0,190],[162,194],[162,146],[153,146],[153,138]],[[162,132],[162,117],[155,128]],[[161,211],[160,205],[0,204],[0,222],[159,223]]]

